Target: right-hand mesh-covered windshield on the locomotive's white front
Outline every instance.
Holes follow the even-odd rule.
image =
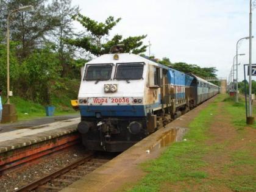
[[[115,79],[132,80],[141,79],[144,63],[118,63]]]

